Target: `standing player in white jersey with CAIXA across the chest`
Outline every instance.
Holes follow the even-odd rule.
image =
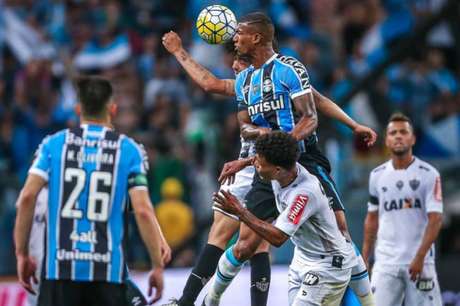
[[[442,305],[434,265],[443,211],[439,172],[412,155],[415,136],[406,116],[390,118],[385,143],[391,159],[370,174],[362,253],[368,261],[377,240],[371,277],[376,303]]]

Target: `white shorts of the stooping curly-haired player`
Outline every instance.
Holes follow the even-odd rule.
[[[350,282],[351,268],[325,269],[304,267],[289,269],[290,306],[339,306]]]

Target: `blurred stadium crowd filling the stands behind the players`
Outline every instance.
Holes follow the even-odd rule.
[[[275,23],[281,53],[300,59],[320,92],[343,101],[356,80],[385,61],[391,48],[445,2],[222,0],[218,4],[237,17],[254,10],[267,12]],[[201,41],[194,27],[199,11],[215,3],[0,0],[2,237],[11,236],[17,190],[42,138],[78,124],[72,76],[96,73],[113,83],[117,130],[147,149],[150,193],[175,250],[173,265],[193,263],[210,224],[216,175],[225,161],[238,156],[237,107],[234,99],[205,94],[193,84],[162,47],[161,36],[169,30],[178,32],[195,59],[216,76],[233,78],[232,54]],[[353,175],[339,171],[350,165],[339,161],[371,160],[367,163],[376,166],[384,158],[381,132],[394,110],[409,114],[418,135],[424,135],[417,154],[444,161],[460,157],[460,144],[452,148],[460,124],[451,131],[457,134],[447,136],[452,137],[447,143],[432,136],[437,135],[433,131],[439,122],[459,122],[460,66],[449,26],[437,25],[414,49],[411,56],[387,68],[372,88],[342,105],[357,121],[380,132],[375,148],[365,148],[344,126],[320,118],[321,144],[336,166],[342,191],[355,188],[366,193],[365,180],[353,185],[348,178]],[[361,174],[355,177],[366,177]],[[364,203],[353,205],[365,210]],[[130,235],[135,246],[129,248],[131,262],[141,266],[147,255],[135,230]],[[453,237],[457,237],[453,249],[459,251],[460,235]],[[0,262],[14,262],[11,243],[8,238],[0,242]]]

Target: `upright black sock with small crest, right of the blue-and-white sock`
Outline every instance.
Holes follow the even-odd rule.
[[[266,306],[270,287],[270,258],[258,253],[251,258],[251,305]]]

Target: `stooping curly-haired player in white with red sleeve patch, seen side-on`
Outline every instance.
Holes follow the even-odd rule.
[[[216,193],[215,202],[277,247],[291,238],[296,248],[289,305],[340,305],[356,255],[337,226],[322,185],[296,163],[299,147],[289,134],[260,136],[255,146],[254,166],[261,178],[271,180],[280,212],[274,225],[255,217],[229,192]],[[237,261],[231,249],[226,256],[230,263]]]

